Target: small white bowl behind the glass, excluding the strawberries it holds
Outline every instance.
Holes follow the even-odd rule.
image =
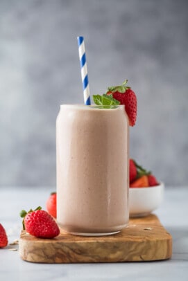
[[[164,183],[148,188],[129,188],[130,217],[144,217],[157,209],[164,198]]]

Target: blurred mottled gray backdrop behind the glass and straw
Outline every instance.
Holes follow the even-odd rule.
[[[55,185],[55,118],[82,103],[77,36],[92,94],[128,78],[130,156],[187,185],[188,1],[1,0],[0,186]]]

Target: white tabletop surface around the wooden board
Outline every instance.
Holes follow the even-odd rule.
[[[0,223],[9,243],[19,238],[19,211],[42,206],[55,188],[0,188]],[[188,280],[188,187],[166,188],[162,205],[154,213],[173,237],[171,260],[101,264],[35,264],[25,262],[19,251],[0,249],[0,280]]]

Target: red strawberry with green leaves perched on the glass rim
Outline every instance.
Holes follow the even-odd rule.
[[[125,105],[129,125],[134,126],[137,120],[137,97],[135,92],[126,86],[127,82],[128,80],[125,80],[120,86],[108,87],[106,94],[112,95],[121,105]]]

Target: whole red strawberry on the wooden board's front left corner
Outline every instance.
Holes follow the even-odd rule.
[[[23,217],[23,228],[27,233],[40,238],[53,238],[60,234],[58,224],[48,212],[41,210],[41,207],[37,209],[29,210],[26,212],[22,210],[20,216]]]

